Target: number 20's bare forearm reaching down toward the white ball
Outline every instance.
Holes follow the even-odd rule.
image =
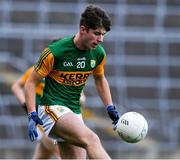
[[[96,89],[105,106],[112,104],[111,92],[105,77],[95,78]]]

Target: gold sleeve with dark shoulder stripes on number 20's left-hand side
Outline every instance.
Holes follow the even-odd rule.
[[[39,73],[42,77],[45,77],[51,72],[54,64],[54,56],[49,48],[46,48],[38,62],[35,64],[34,68],[37,73]]]

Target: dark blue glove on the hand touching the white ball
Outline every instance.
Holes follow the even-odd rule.
[[[108,112],[109,117],[113,121],[112,124],[116,127],[116,124],[118,123],[118,120],[120,117],[119,112],[116,110],[116,107],[114,105],[107,106],[107,112]]]

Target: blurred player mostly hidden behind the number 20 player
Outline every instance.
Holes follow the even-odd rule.
[[[24,85],[28,77],[33,71],[33,67],[30,67],[26,72],[17,79],[11,87],[12,92],[14,93],[15,97],[18,99],[20,104],[22,105],[23,109],[27,113],[26,103],[25,103],[25,95],[24,95]],[[44,79],[36,87],[36,107],[39,105],[40,97],[43,94],[44,88]],[[39,141],[36,144],[35,152],[33,155],[33,159],[50,159],[52,156],[60,159],[60,152],[59,148],[54,141],[48,138],[42,130],[39,129]]]

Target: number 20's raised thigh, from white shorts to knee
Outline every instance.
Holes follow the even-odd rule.
[[[85,147],[89,142],[99,140],[97,135],[71,112],[57,120],[50,134],[55,134],[67,142],[81,147]]]

